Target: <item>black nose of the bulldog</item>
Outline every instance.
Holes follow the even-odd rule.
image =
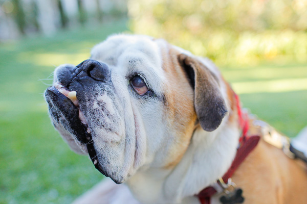
[[[89,77],[106,82],[110,79],[110,70],[104,63],[100,63],[96,60],[85,60],[76,66],[74,72],[78,75],[81,71],[84,71]]]

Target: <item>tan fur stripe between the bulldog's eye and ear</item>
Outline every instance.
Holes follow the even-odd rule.
[[[194,92],[189,86],[186,75],[177,59],[178,51],[170,47],[161,47],[163,69],[168,80],[168,92],[165,93],[168,122],[170,126],[177,126],[177,141],[169,151],[169,162],[166,169],[176,166],[190,142],[190,135],[194,130],[197,119],[194,111]],[[180,82],[180,83],[178,83]],[[178,97],[180,95],[180,97]],[[181,110],[180,112],[178,110]],[[178,125],[180,124],[180,125]],[[188,127],[188,128],[187,128]]]

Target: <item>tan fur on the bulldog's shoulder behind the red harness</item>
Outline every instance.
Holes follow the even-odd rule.
[[[307,203],[305,166],[262,139],[232,179],[244,190],[245,203]]]

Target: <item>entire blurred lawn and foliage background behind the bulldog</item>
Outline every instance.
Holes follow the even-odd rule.
[[[43,91],[114,33],[212,59],[244,107],[294,137],[307,125],[307,0],[0,0],[0,203],[70,203],[103,179],[54,130]]]

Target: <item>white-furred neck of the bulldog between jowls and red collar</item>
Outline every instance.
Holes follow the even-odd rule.
[[[149,168],[131,177],[127,184],[141,202],[180,203],[223,176],[235,157],[239,135],[237,124],[229,123],[227,117],[213,132],[199,127],[176,167]]]

